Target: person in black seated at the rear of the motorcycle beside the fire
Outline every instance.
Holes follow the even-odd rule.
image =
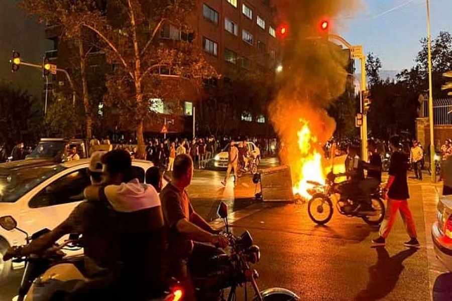
[[[371,154],[369,157],[369,163],[363,162],[363,168],[367,170],[367,178],[360,181],[358,187],[364,193],[366,202],[363,205],[363,210],[374,211],[372,208],[371,195],[377,190],[378,185],[381,183],[381,157],[377,154],[377,145],[374,140],[367,141],[367,150]]]

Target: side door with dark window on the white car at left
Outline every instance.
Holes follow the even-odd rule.
[[[83,200],[90,185],[85,165],[65,170],[32,190],[21,211],[21,225],[29,234],[53,229]]]

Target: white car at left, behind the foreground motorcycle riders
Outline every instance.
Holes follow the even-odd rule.
[[[55,228],[83,200],[83,190],[90,185],[88,163],[89,159],[45,166],[0,164],[0,216],[13,216],[19,228],[29,235],[43,228]],[[132,165],[140,182],[144,182],[146,171],[153,166],[144,160],[133,160]],[[11,260],[3,261],[3,254],[10,246],[21,244],[25,244],[23,233],[0,228],[0,282],[12,268],[20,267]]]

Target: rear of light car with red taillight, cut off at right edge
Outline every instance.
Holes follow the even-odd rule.
[[[431,228],[436,257],[452,271],[452,195],[442,196],[437,205],[437,221]]]

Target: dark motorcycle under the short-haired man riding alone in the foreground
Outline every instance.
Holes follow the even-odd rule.
[[[227,253],[213,256],[207,260],[204,270],[207,269],[210,272],[192,273],[197,299],[211,299],[203,296],[219,295],[221,300],[226,300],[224,294],[229,290],[227,300],[237,300],[237,287],[241,286],[245,289],[244,299],[248,300],[247,284],[251,283],[254,290],[253,300],[299,300],[300,298],[294,292],[285,288],[274,287],[259,290],[256,282],[259,274],[250,266],[250,264],[257,263],[261,257],[259,247],[253,244],[250,232],[245,231],[242,235],[235,236],[229,231],[228,206],[226,204],[221,202],[217,214],[225,222],[225,235],[229,239],[230,247],[228,247]]]

